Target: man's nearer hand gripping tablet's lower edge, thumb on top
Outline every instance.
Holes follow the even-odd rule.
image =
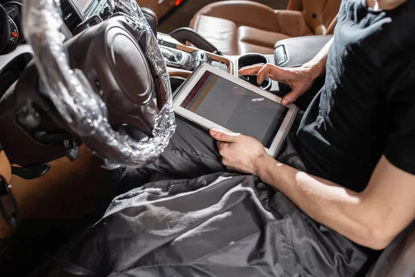
[[[264,146],[256,139],[243,134],[210,129],[216,139],[222,163],[231,170],[257,175],[257,161],[267,155]]]

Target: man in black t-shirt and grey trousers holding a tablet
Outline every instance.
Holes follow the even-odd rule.
[[[369,249],[384,249],[415,219],[414,15],[414,1],[345,0],[333,41],[311,62],[242,69],[259,83],[268,76],[289,84],[284,105],[326,73],[297,131],[297,151],[288,141],[275,160],[251,137],[211,129],[212,139],[178,120],[165,154],[147,168],[124,171],[121,186],[137,186],[137,173],[192,178],[223,165],[261,181],[208,175],[131,190],[51,272],[358,274]]]

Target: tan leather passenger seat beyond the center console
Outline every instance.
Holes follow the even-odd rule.
[[[272,54],[288,37],[333,33],[341,0],[290,0],[287,10],[253,1],[220,1],[194,15],[190,28],[228,55]]]

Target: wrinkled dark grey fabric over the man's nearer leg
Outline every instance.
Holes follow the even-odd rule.
[[[217,173],[116,197],[32,276],[355,276],[365,260],[256,177]]]

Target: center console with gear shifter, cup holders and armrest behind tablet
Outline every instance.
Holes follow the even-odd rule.
[[[262,89],[266,89],[277,96],[284,96],[291,91],[287,84],[265,78],[264,82],[257,84],[257,76],[239,75],[238,71],[244,66],[253,64],[277,64],[281,67],[297,67],[302,66],[311,60],[333,37],[332,35],[313,35],[309,37],[294,37],[290,39],[282,39],[275,44],[274,55],[261,55],[259,53],[248,53],[245,55],[218,55],[209,51],[201,50],[192,45],[178,42],[177,39],[170,35],[158,33],[158,43],[160,45],[163,56],[167,63],[167,69],[170,76],[178,76],[187,78],[194,69],[201,63],[208,63],[216,68],[226,71],[238,78],[250,82]],[[302,96],[296,101],[300,109],[306,109],[308,103],[315,96],[324,84],[324,78],[320,78],[315,82],[315,86],[311,88],[311,93]],[[184,79],[182,79],[183,82]],[[177,86],[175,86],[177,87]]]

